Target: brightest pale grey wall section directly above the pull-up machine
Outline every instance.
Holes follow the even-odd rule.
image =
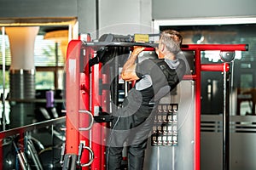
[[[98,30],[90,30],[93,37],[96,37],[96,31],[100,36],[104,33],[127,35],[151,31],[151,0],[99,0],[98,8]],[[79,20],[88,18],[89,15]]]

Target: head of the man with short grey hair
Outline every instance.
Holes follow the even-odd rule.
[[[172,53],[176,55],[180,51],[183,42],[183,37],[178,31],[166,30],[160,34],[159,50],[160,53]],[[160,54],[161,55],[161,54]],[[159,55],[160,58],[162,58]]]

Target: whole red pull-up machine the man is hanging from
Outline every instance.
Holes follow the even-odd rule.
[[[131,42],[131,37],[129,36],[125,37],[125,40],[121,40],[123,42],[114,42],[115,36],[116,35],[105,35],[105,37],[102,38],[103,42],[90,42],[90,37],[87,35],[86,41],[72,40],[69,42],[66,66],[67,141],[65,147],[63,146],[65,149],[62,151],[63,160],[61,162],[64,165],[63,169],[77,167],[82,164],[87,165],[87,167],[82,167],[83,169],[99,170],[106,168],[105,143],[106,134],[108,133],[108,121],[111,120],[111,116],[105,113],[110,113],[110,111],[117,109],[119,102],[121,102],[119,101],[119,97],[125,95],[132,86],[132,83],[121,82],[121,80],[117,78],[119,76],[119,67],[124,63],[124,60],[129,55],[128,51],[132,50],[133,46],[144,46],[147,47],[146,50],[148,51],[154,51],[154,47],[157,46],[157,43]],[[119,36],[117,35],[116,37]],[[233,59],[233,56],[224,54],[224,63],[206,65],[201,64],[201,52],[206,50],[218,50],[232,54],[235,50],[245,51],[247,49],[246,44],[185,44],[182,46],[183,51],[193,51],[195,55],[194,72],[192,72],[191,75],[183,77],[184,81],[192,81],[193,84],[191,88],[193,98],[192,101],[190,101],[193,103],[191,107],[193,111],[189,115],[194,117],[194,121],[189,123],[190,129],[193,130],[193,132],[191,136],[189,136],[190,143],[187,144],[186,141],[184,144],[182,142],[183,134],[180,135],[178,133],[178,125],[177,133],[172,131],[172,135],[171,132],[169,133],[170,136],[166,136],[166,133],[168,133],[166,129],[167,131],[170,127],[175,129],[175,123],[171,125],[156,125],[155,131],[158,128],[158,133],[155,134],[156,136],[153,135],[151,139],[153,145],[159,147],[156,150],[160,149],[160,147],[167,147],[166,145],[168,145],[168,147],[177,148],[174,148],[173,152],[175,152],[175,150],[181,151],[180,148],[184,144],[184,148],[189,147],[189,154],[187,154],[189,160],[186,160],[189,163],[185,166],[189,167],[189,169],[200,169],[201,71],[222,71],[224,72],[223,168],[229,168],[229,107],[227,106],[229,104],[227,98],[229,94],[228,62]],[[109,63],[110,65],[108,65]],[[110,86],[110,84],[112,86]],[[110,90],[106,88],[109,86],[112,87]],[[112,96],[113,99],[110,99],[109,96]],[[180,113],[183,113],[181,110],[183,106],[180,106],[182,104],[178,105],[179,110],[177,112],[178,115],[180,115]],[[81,114],[84,111],[88,114]],[[167,114],[167,116],[170,115]],[[104,116],[108,117],[108,121]],[[168,122],[169,119],[163,119],[163,116],[164,115],[160,115],[160,119],[164,122]],[[175,117],[175,115],[171,116],[172,119],[173,116]],[[94,117],[94,119],[92,120],[89,117]],[[96,119],[100,121],[93,123],[92,127],[89,128],[91,122]],[[106,120],[106,122],[104,122],[104,120]],[[180,121],[181,120],[177,118],[177,123]],[[85,127],[88,127],[86,129],[88,129],[89,132],[80,130]],[[86,148],[88,147],[88,150],[84,150],[81,153],[81,144],[86,146]],[[90,153],[89,148],[93,153]],[[160,151],[164,152],[165,150]],[[169,153],[170,150],[166,151]],[[186,152],[187,150],[183,150],[183,153],[184,151]],[[183,153],[179,156],[182,156]],[[81,159],[79,156],[81,156]],[[176,155],[174,154],[174,156]],[[91,162],[91,164],[89,162]],[[177,169],[183,168],[181,165],[178,165],[175,157],[172,157],[172,161],[168,162],[172,163],[172,167],[177,167]],[[151,168],[150,165],[148,166]],[[156,163],[156,166],[160,165]]]

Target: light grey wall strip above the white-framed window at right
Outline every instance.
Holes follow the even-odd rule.
[[[154,20],[256,15],[254,0],[152,0]]]

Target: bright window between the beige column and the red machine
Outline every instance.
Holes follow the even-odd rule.
[[[36,89],[62,89],[64,58],[60,44],[38,36],[35,42]]]

